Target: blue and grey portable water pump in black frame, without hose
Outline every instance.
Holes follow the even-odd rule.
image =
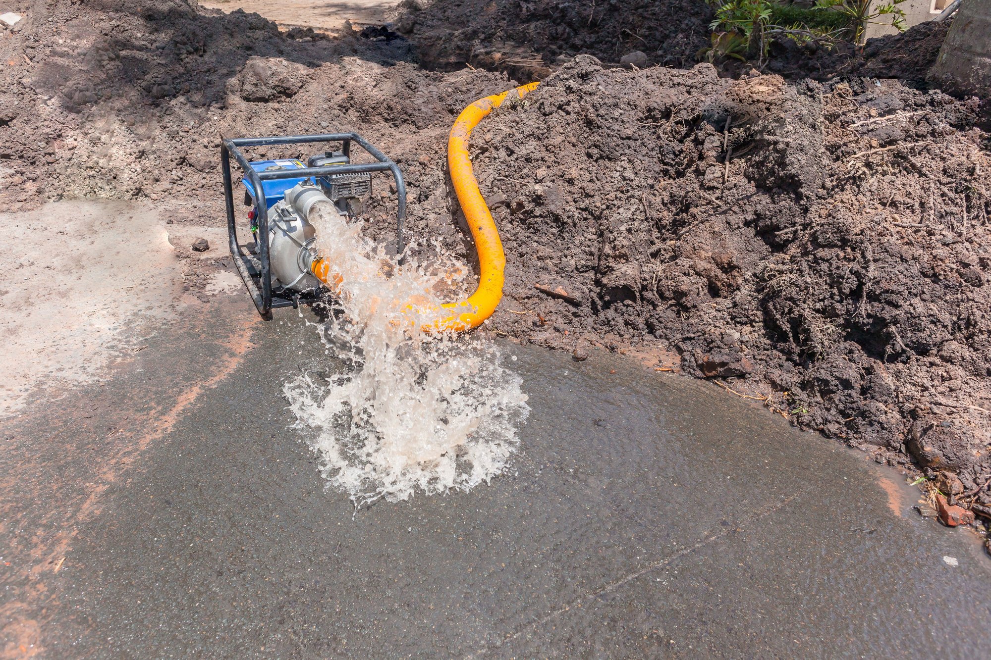
[[[249,162],[242,147],[337,143],[339,151],[324,151],[307,159]],[[376,163],[351,161],[352,144],[357,144]],[[293,306],[318,298],[320,281],[313,275],[316,255],[311,246],[315,230],[307,220],[317,202],[328,202],[342,215],[356,217],[372,194],[372,174],[389,171],[398,195],[396,213],[396,254],[402,252],[402,226],[406,217],[406,186],[398,165],[357,133],[286,136],[277,138],[236,138],[221,142],[221,168],[227,206],[227,233],[234,264],[241,274],[255,306],[264,318],[272,318],[275,307]],[[231,157],[244,172],[244,203],[250,207],[248,226],[253,246],[238,240]]]

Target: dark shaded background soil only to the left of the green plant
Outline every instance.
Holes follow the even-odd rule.
[[[644,64],[694,62],[712,15],[701,0],[405,0],[395,26],[416,43],[424,66],[467,62],[527,77],[583,53],[612,62],[635,51],[646,55]]]

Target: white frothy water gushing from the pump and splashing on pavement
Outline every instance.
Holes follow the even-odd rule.
[[[301,374],[284,392],[296,426],[318,431],[311,444],[329,485],[357,508],[488,483],[529,412],[521,380],[491,341],[421,329],[451,313],[441,296],[463,288],[467,269],[445,257],[400,267],[327,204],[309,221],[316,253],[342,278],[329,319],[314,325],[345,367]]]

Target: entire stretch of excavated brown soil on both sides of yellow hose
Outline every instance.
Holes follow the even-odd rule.
[[[496,25],[516,6],[495,0],[483,14]],[[651,61],[690,65],[709,10],[525,6],[493,44],[504,35],[545,65],[567,61],[473,137],[507,255],[487,327],[576,359],[594,345],[661,356],[659,369],[716,380],[880,462],[918,465],[991,514],[991,156],[976,101],[921,88],[918,67],[871,69],[883,54],[843,79],[820,69],[821,81],[610,68],[576,53],[614,60],[637,41],[622,30],[650,43],[640,50]],[[457,56],[431,59],[458,69],[445,72],[414,63],[441,45],[426,20],[406,26],[422,40],[414,51],[387,36],[280,33],[181,0],[22,13],[0,41],[8,207],[150,199],[190,237],[222,237],[219,136],[353,129],[402,167],[414,249],[439,239],[472,258],[444,147],[463,106],[511,84],[505,71],[456,65],[485,31],[451,38]],[[583,32],[590,15],[597,29]],[[628,23],[636,16],[664,29]],[[553,26],[572,31],[561,53]],[[869,77],[892,71],[908,82]],[[276,155],[307,154],[252,154]],[[394,209],[380,179],[368,231],[390,240]],[[204,299],[231,268],[216,243],[197,258],[177,246]]]

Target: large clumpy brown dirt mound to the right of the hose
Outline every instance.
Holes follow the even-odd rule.
[[[473,138],[507,256],[492,328],[578,357],[667,349],[974,489],[991,477],[991,157],[973,110],[892,80],[580,56]],[[426,218],[414,233],[450,224]]]

